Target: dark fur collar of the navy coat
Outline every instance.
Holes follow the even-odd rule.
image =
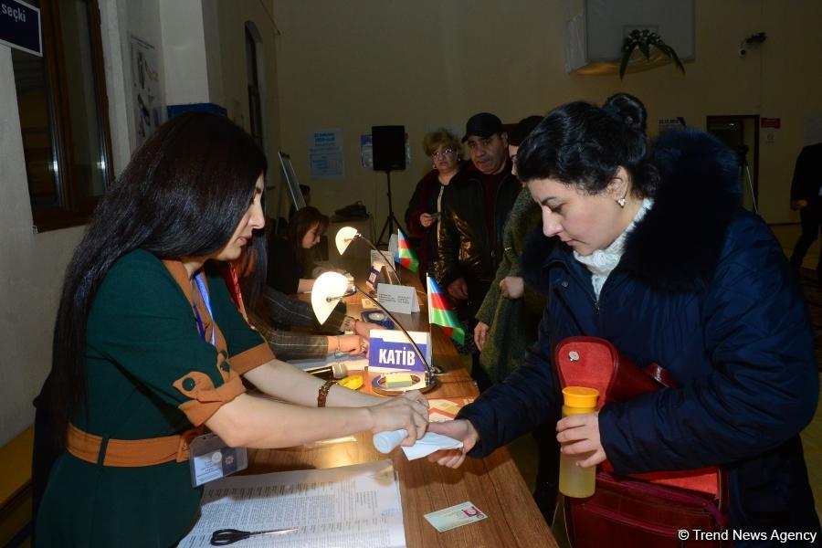
[[[736,154],[696,130],[663,133],[652,154],[659,169],[654,205],[628,235],[617,269],[663,292],[698,290],[710,281],[727,228],[740,212]],[[545,293],[548,280],[541,270],[553,248],[551,239],[538,227],[522,251],[525,279]],[[557,251],[574,260],[567,246]]]

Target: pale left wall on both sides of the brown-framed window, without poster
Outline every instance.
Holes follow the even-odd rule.
[[[127,65],[130,17],[138,36],[151,34],[152,27],[159,22],[156,2],[145,1],[139,6],[129,3],[126,7],[123,0],[100,1],[110,103],[111,161],[115,173],[120,173],[128,162],[130,139],[133,139],[126,98],[131,85]],[[121,33],[121,29],[125,30]],[[0,100],[9,107],[0,111],[3,128],[0,132],[0,344],[7,349],[7,359],[2,365],[5,382],[0,383],[0,445],[3,445],[34,419],[31,402],[51,367],[52,330],[63,274],[84,227],[32,232],[14,69],[11,50],[3,45],[0,45]]]

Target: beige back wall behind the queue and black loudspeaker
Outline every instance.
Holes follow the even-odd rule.
[[[516,122],[569,100],[602,102],[627,91],[646,102],[651,133],[659,118],[676,116],[698,128],[708,115],[782,118],[775,142],[761,143],[761,211],[769,222],[796,219],[788,188],[803,117],[822,112],[818,0],[697,0],[696,59],[686,74],[669,65],[623,80],[564,72],[565,22],[579,0],[279,0],[276,8],[283,147],[326,213],[362,199],[377,228],[385,219],[385,174],[359,161],[359,136],[372,125],[404,124],[409,133],[411,165],[392,174],[402,216],[430,169],[421,141],[431,126],[461,132],[478,111]],[[759,31],[767,41],[739,58],[740,42]],[[310,177],[308,133],[321,129],[342,130],[342,180]]]

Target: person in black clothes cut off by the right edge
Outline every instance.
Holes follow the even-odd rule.
[[[791,255],[791,265],[798,270],[822,226],[822,142],[806,146],[796,158],[791,183],[791,209],[798,209],[802,219],[802,236],[796,240]],[[822,253],[817,264],[817,277],[822,282]]]

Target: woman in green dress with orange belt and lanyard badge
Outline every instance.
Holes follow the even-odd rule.
[[[58,457],[34,470],[36,483],[48,478],[37,546],[177,543],[197,515],[189,444],[205,428],[231,448],[423,435],[423,395],[323,384],[274,359],[230,300],[215,269],[263,227],[265,172],[246,132],[189,112],[154,132],[100,199],[68,266],[38,397],[36,454]],[[271,397],[246,394],[241,375]]]

